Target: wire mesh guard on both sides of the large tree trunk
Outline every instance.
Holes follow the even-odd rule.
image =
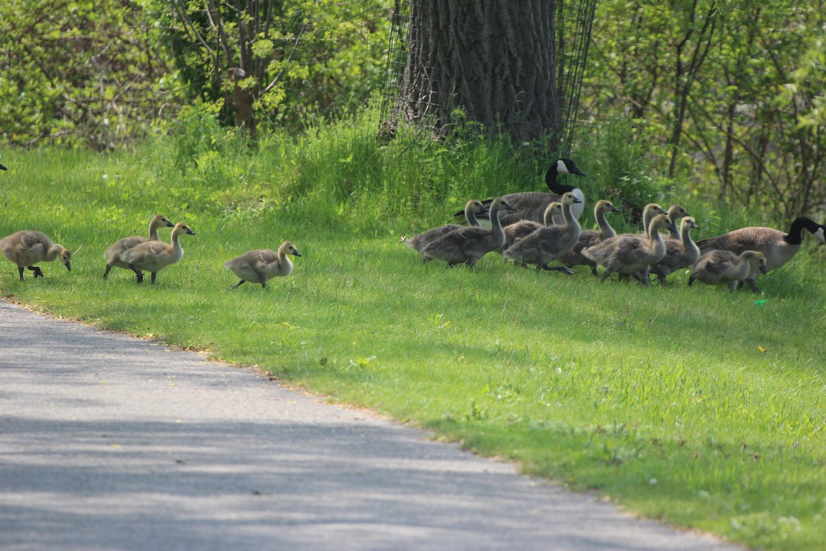
[[[396,0],[392,16],[390,42],[387,49],[381,108],[381,131],[392,133],[404,119],[400,109],[401,80],[407,64],[408,36],[411,32],[411,0]],[[556,137],[561,153],[570,151],[574,127],[579,111],[579,95],[582,90],[582,74],[591,43],[591,26],[594,21],[596,0],[556,0],[554,33],[556,57],[557,93],[560,105],[561,128]],[[436,96],[435,93],[432,96]],[[430,112],[439,112],[439,105],[432,104]],[[415,124],[436,131],[435,116],[420,117]]]

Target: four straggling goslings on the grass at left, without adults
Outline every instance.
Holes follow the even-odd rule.
[[[169,244],[159,238],[158,230],[163,227],[173,228]],[[150,221],[148,239],[132,235],[117,240],[106,249],[103,253],[103,258],[107,261],[103,278],[109,277],[112,268],[123,268],[135,272],[138,283],[143,283],[144,272],[149,272],[154,285],[162,269],[178,264],[183,259],[181,235],[195,235],[195,232],[184,222],[173,224],[166,216],[154,216]],[[43,271],[35,265],[40,262],[60,259],[66,269],[72,269],[72,252],[63,245],[52,243],[49,237],[40,231],[21,230],[8,235],[0,240],[0,251],[9,261],[17,264],[21,281],[23,281],[26,268],[34,272],[35,278],[44,277]],[[235,259],[227,260],[224,267],[240,279],[230,288],[238,288],[246,282],[260,283],[261,287],[267,288],[269,279],[284,277],[292,273],[290,255],[301,256],[301,253],[290,241],[284,241],[278,251],[255,249]]]

